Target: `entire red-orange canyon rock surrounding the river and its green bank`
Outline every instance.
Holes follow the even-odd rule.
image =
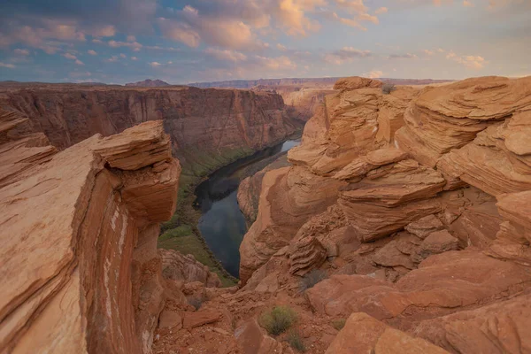
[[[531,352],[531,77],[382,85],[0,89],[1,351]],[[237,192],[238,285],[158,250],[183,185],[304,122]]]

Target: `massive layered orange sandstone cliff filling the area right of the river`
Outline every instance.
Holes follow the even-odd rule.
[[[531,77],[381,85],[337,81],[293,165],[240,190],[241,291],[304,313],[312,352],[531,350]]]

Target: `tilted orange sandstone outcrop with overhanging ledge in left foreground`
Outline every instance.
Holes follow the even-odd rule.
[[[158,223],[181,171],[162,122],[57,152],[12,114],[0,117],[0,351],[150,352]]]

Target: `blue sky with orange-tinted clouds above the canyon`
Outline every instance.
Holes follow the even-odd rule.
[[[531,75],[531,0],[2,0],[0,81]]]

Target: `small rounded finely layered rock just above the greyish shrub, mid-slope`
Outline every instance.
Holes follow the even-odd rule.
[[[297,241],[289,254],[289,273],[303,276],[327,259],[327,250],[315,237]]]

